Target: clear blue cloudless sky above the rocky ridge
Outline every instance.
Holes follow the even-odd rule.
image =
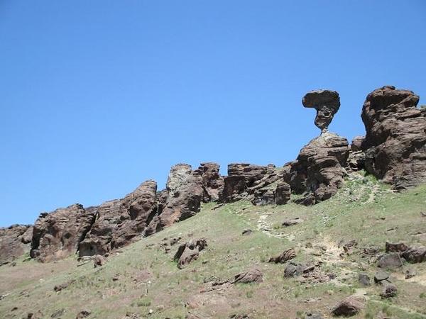
[[[368,92],[426,103],[426,1],[0,0],[0,225],[120,198],[173,164],[282,165],[364,134]]]

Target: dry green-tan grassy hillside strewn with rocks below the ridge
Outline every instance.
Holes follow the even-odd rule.
[[[426,245],[421,211],[426,211],[426,185],[395,194],[359,173],[348,177],[337,196],[312,207],[239,201],[217,208],[209,203],[197,216],[114,253],[100,268],[93,262],[77,266],[77,258],[39,264],[26,257],[16,267],[0,267],[0,318],[26,318],[38,311],[43,318],[75,318],[84,309],[91,312],[88,318],[185,318],[189,313],[199,318],[304,318],[309,311],[328,318],[332,306],[353,294],[366,298],[356,318],[426,318],[426,263],[404,264],[392,272],[398,296],[390,300],[380,298],[381,287],[358,284],[359,272],[372,278],[377,270],[361,253],[364,247],[384,251],[386,240]],[[290,218],[303,221],[281,226]],[[253,233],[241,235],[247,228]],[[178,269],[173,261],[178,245],[169,253],[163,247],[174,237],[182,237],[180,242],[204,237],[207,250]],[[341,257],[339,242],[348,240],[358,245]],[[317,276],[284,278],[284,264],[268,263],[292,247],[295,261],[322,262]],[[253,267],[263,272],[263,283],[212,287],[212,281],[232,279]],[[417,276],[404,279],[408,268]],[[67,288],[54,291],[68,281]]]

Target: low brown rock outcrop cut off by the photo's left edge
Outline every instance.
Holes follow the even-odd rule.
[[[0,228],[0,265],[29,252],[33,227],[29,225],[11,225]]]

